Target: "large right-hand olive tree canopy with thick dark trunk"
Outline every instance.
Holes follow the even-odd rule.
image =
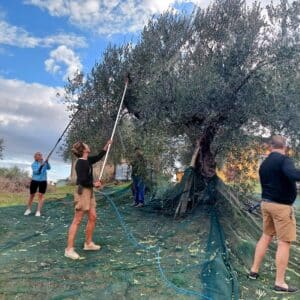
[[[239,0],[215,1],[192,22],[164,15],[132,58],[139,78],[128,109],[198,143],[204,176],[215,174],[218,154],[260,128],[297,138],[299,2],[269,6],[268,15]]]

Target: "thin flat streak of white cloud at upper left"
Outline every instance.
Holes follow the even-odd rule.
[[[73,48],[87,47],[85,38],[75,34],[58,33],[45,37],[35,37],[22,27],[0,20],[0,45],[21,48],[52,47],[60,44]]]

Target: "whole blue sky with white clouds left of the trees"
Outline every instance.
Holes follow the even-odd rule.
[[[108,44],[137,40],[151,16],[195,4],[209,1],[0,0],[0,167],[30,171],[34,152],[49,153],[69,121],[68,77],[89,73]],[[50,180],[68,177],[59,152],[51,162]]]

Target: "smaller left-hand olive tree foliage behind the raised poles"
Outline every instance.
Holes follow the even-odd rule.
[[[65,87],[65,101],[72,112],[71,116],[78,108],[80,109],[63,146],[65,159],[71,157],[70,149],[76,141],[89,144],[92,152],[96,153],[110,138],[124,92],[125,75],[129,69],[126,62],[130,51],[131,45],[119,48],[109,46],[103,54],[101,63],[94,66],[81,84],[69,81]],[[109,161],[114,164],[119,163],[121,159],[131,161],[134,149],[140,147],[149,168],[159,171],[162,165],[173,165],[176,157],[176,149],[173,151],[169,146],[169,139],[170,136],[157,127],[145,129],[124,106],[111,146]],[[164,156],[161,153],[164,153]],[[167,159],[163,160],[166,153]]]

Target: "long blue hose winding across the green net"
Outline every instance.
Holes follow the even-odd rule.
[[[160,273],[160,276],[161,278],[164,280],[164,282],[166,283],[166,285],[172,289],[174,289],[178,294],[183,294],[183,295],[187,295],[187,296],[199,296],[201,297],[202,299],[207,299],[207,300],[212,300],[212,298],[210,297],[207,297],[197,291],[193,291],[193,290],[187,290],[187,289],[184,289],[184,288],[180,288],[178,287],[177,285],[175,285],[174,283],[172,283],[166,276],[162,266],[161,266],[161,257],[160,257],[160,248],[155,245],[155,246],[145,246],[143,244],[141,244],[140,242],[137,241],[137,239],[133,236],[131,230],[128,228],[126,222],[124,221],[124,218],[122,217],[122,215],[120,214],[116,204],[114,203],[114,201],[109,197],[109,195],[111,195],[112,193],[110,193],[109,195],[106,194],[106,193],[101,193],[99,192],[100,194],[102,194],[108,201],[109,203],[111,204],[111,206],[113,207],[117,217],[118,217],[118,220],[121,224],[121,226],[123,227],[126,235],[127,235],[127,238],[128,240],[133,244],[133,246],[135,247],[138,247],[138,248],[142,248],[142,249],[145,249],[147,251],[155,251],[156,252],[156,261],[157,261],[157,267],[158,267],[158,270],[159,270],[159,273]]]

